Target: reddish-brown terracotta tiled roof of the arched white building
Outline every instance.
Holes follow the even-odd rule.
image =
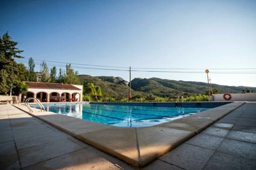
[[[57,83],[39,83],[39,82],[24,82],[30,88],[52,88],[52,89],[69,89],[69,90],[81,90],[74,85],[69,84],[57,84]]]

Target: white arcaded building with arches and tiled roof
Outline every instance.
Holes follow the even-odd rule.
[[[28,91],[20,94],[19,98],[36,97],[41,102],[83,101],[83,85],[57,83],[24,82]]]

